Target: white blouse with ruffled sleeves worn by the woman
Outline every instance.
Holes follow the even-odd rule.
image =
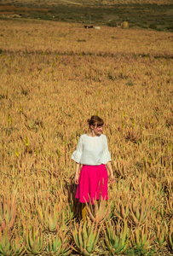
[[[82,165],[100,166],[111,161],[108,151],[107,137],[101,134],[99,137],[81,135],[78,140],[77,149],[72,153],[72,160]]]

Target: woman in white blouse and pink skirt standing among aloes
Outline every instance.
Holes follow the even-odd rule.
[[[72,160],[76,161],[75,183],[78,184],[76,197],[83,203],[82,215],[85,221],[85,201],[107,200],[107,169],[110,172],[111,182],[114,176],[111,166],[111,155],[108,151],[107,137],[102,134],[103,120],[96,115],[88,119],[89,132],[81,135],[77,149],[72,153]],[[80,176],[78,172],[83,165]],[[106,168],[107,166],[107,168]]]

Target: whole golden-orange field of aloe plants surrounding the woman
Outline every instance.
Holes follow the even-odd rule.
[[[0,38],[0,255],[171,255],[172,33],[1,20]],[[95,113],[116,181],[78,228],[71,154]]]

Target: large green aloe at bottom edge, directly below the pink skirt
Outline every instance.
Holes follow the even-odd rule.
[[[74,224],[74,230],[72,231],[72,236],[79,253],[84,256],[89,256],[95,251],[97,241],[99,239],[99,234],[101,227],[98,230],[97,224],[91,224],[91,222],[86,221],[78,224]]]

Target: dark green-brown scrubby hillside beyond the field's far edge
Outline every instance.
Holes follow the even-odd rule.
[[[173,32],[173,4],[170,0],[151,1],[1,1],[0,19],[40,19],[89,24],[120,26],[124,20],[130,28]],[[124,4],[129,3],[129,4]],[[158,3],[158,4],[156,4]]]

